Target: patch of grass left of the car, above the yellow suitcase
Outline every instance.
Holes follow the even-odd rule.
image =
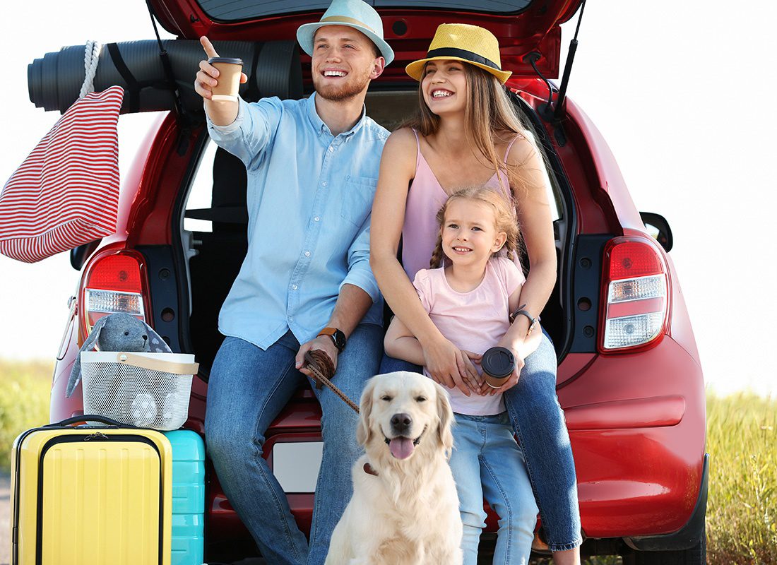
[[[0,360],[0,472],[8,473],[11,446],[30,427],[48,424],[53,363]]]

